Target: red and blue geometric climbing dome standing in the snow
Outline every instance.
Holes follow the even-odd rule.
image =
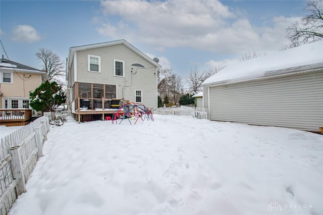
[[[153,116],[151,111],[149,111],[145,105],[129,102],[122,105],[115,113],[113,113],[112,123],[116,122],[116,124],[118,124],[118,120],[120,120],[119,124],[121,124],[125,119],[128,119],[131,125],[131,120],[136,120],[134,124],[137,123],[138,119],[141,119],[142,121],[145,121],[145,119],[147,119],[147,121],[153,121]]]

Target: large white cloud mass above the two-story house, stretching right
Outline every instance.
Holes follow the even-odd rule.
[[[274,17],[268,26],[254,26],[240,11],[217,0],[205,1],[103,1],[103,36],[126,38],[163,50],[192,47],[221,53],[279,49],[287,39],[286,28],[295,18]],[[113,19],[118,18],[117,23]],[[104,22],[105,20],[105,22]]]

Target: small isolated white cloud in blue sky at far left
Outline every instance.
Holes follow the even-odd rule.
[[[30,25],[17,25],[13,34],[13,40],[18,42],[32,43],[41,39],[36,29]]]

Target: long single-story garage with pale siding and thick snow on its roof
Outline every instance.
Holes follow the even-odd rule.
[[[318,132],[323,41],[231,64],[203,83],[210,120]]]

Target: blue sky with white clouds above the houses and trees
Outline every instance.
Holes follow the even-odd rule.
[[[2,0],[0,36],[10,60],[38,69],[41,47],[65,61],[71,46],[126,39],[185,78],[196,67],[236,62],[249,50],[278,50],[305,6],[280,0]]]

